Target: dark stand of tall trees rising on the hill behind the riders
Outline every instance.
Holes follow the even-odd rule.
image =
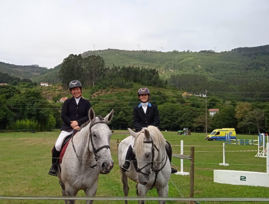
[[[77,79],[83,87],[114,88],[132,87],[132,83],[146,84],[146,86],[163,87],[163,81],[156,69],[140,67],[105,67],[102,57],[90,55],[82,58],[81,55],[71,54],[63,60],[59,71],[59,78],[63,88],[68,89],[69,82]]]

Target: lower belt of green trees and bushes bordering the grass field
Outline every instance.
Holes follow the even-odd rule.
[[[98,89],[98,86],[83,88],[83,97],[90,101],[98,115],[106,115],[114,109],[111,129],[132,128],[132,110],[139,104],[137,90],[141,84],[132,83],[131,88]],[[192,131],[205,130],[205,98],[191,96],[183,98],[182,91],[176,88],[148,86],[151,91],[150,102],[158,105],[160,129],[178,130],[190,128]],[[53,97],[51,97],[53,96]],[[0,129],[44,130],[61,127],[61,97],[71,97],[69,90],[61,86],[25,87],[0,86]],[[207,129],[235,128],[237,133],[255,133],[269,130],[269,103],[242,102],[233,98],[207,98]],[[209,116],[209,108],[219,112]]]

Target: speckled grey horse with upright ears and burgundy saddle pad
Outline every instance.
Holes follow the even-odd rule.
[[[109,146],[111,131],[107,125],[112,117],[113,110],[102,118],[95,117],[91,108],[90,120],[81,126],[80,132],[68,143],[57,175],[63,196],[76,196],[79,190],[83,190],[86,196],[95,196],[99,174],[107,174],[113,168]],[[68,201],[70,204],[75,203],[75,200]],[[68,201],[65,200],[65,204]],[[93,200],[87,200],[86,203],[93,203]]]

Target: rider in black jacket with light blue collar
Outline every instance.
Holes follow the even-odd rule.
[[[135,127],[135,132],[139,132],[142,128],[147,126],[156,126],[160,125],[160,116],[158,107],[155,104],[151,104],[148,102],[149,100],[149,89],[148,88],[140,88],[138,90],[138,98],[140,99],[141,103],[138,106],[133,108],[133,125]],[[123,171],[129,171],[129,166],[133,159],[133,145],[134,140],[129,145],[128,150],[126,152],[126,158],[124,163],[122,164]],[[169,142],[166,141],[165,149],[168,155],[168,158],[171,163],[172,159],[172,146]],[[171,168],[172,173],[174,174],[177,172],[176,169]]]

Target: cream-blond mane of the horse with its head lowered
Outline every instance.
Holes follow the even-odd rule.
[[[155,126],[148,126],[147,128],[143,128],[140,132],[137,133],[135,137],[134,146],[136,148],[136,154],[140,157],[143,152],[143,142],[145,139],[145,129],[147,129],[151,133],[151,138],[158,149],[160,149],[161,144],[165,144],[165,139],[162,133]]]

